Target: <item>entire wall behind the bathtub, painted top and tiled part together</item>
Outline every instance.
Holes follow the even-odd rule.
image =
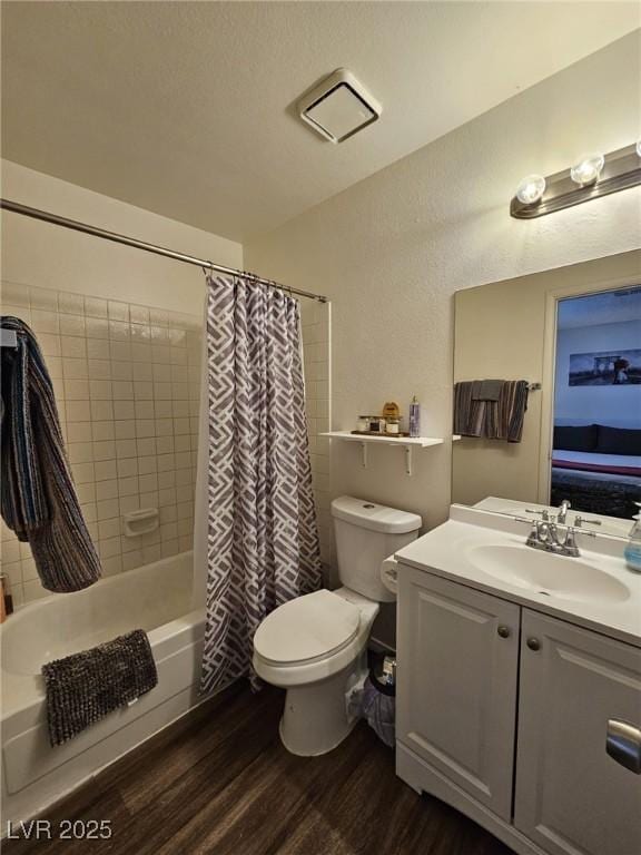
[[[14,164],[3,196],[243,266],[241,247]],[[2,214],[2,312],[30,323],[53,377],[82,511],[103,572],[189,549],[204,277],[197,267]],[[122,537],[128,510],[159,530]],[[27,544],[2,525],[16,603],[43,594]]]

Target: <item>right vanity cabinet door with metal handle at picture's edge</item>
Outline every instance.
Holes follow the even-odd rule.
[[[641,853],[641,775],[608,755],[610,720],[641,726],[641,650],[524,610],[514,822],[551,855]]]

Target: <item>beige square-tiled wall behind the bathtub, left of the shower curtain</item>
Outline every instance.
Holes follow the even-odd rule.
[[[1,298],[42,348],[103,573],[191,549],[203,320],[8,282]],[[159,509],[159,529],[124,537],[141,508]],[[3,523],[2,572],[17,606],[47,593]]]

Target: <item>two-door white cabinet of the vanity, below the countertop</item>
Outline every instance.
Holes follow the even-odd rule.
[[[397,772],[524,855],[639,855],[641,650],[403,566]]]

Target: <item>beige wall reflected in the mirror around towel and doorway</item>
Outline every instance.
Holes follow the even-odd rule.
[[[542,383],[543,389],[530,394],[520,443],[473,439],[455,443],[453,501],[474,504],[487,495],[548,501],[543,466],[553,386],[546,366],[553,364],[554,346],[549,298],[589,293],[609,284],[635,285],[640,278],[641,252],[631,252],[456,294],[454,381],[527,380]]]

